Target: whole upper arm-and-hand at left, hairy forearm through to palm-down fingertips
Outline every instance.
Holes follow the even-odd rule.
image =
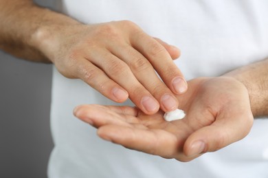
[[[175,110],[175,94],[187,90],[172,61],[179,58],[179,49],[131,21],[86,25],[30,0],[0,0],[0,22],[4,51],[52,62],[65,77],[82,79],[119,103],[130,98],[146,114]]]

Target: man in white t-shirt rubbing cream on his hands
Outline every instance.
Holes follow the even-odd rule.
[[[267,176],[266,119],[254,121],[245,141],[217,151],[247,136],[253,116],[267,115],[265,1],[63,1],[62,11],[73,18],[32,1],[0,2],[1,48],[56,66],[49,177]],[[148,34],[181,47],[184,56],[175,63],[188,87],[172,62],[179,50]],[[102,142],[71,117],[81,103],[114,104],[105,97],[119,103],[129,97],[139,109],[77,107],[76,116],[100,128],[100,137],[193,161]],[[186,118],[164,122],[163,112],[177,107]],[[217,152],[202,155],[210,151]],[[245,162],[246,156],[255,161]]]

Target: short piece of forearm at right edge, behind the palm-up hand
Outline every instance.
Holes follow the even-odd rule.
[[[234,77],[247,87],[254,116],[268,116],[268,59],[237,68],[225,76]]]

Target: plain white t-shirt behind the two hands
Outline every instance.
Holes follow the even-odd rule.
[[[181,49],[176,60],[187,79],[219,76],[268,56],[268,1],[62,0],[61,9],[84,23],[130,20]],[[249,135],[192,162],[166,160],[101,140],[75,118],[82,103],[115,104],[54,68],[51,126],[55,147],[50,178],[268,177],[268,119]],[[130,105],[131,103],[125,103]]]

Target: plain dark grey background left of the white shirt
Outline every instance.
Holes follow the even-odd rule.
[[[36,1],[52,7],[54,0]],[[52,64],[0,51],[0,177],[47,177]]]

